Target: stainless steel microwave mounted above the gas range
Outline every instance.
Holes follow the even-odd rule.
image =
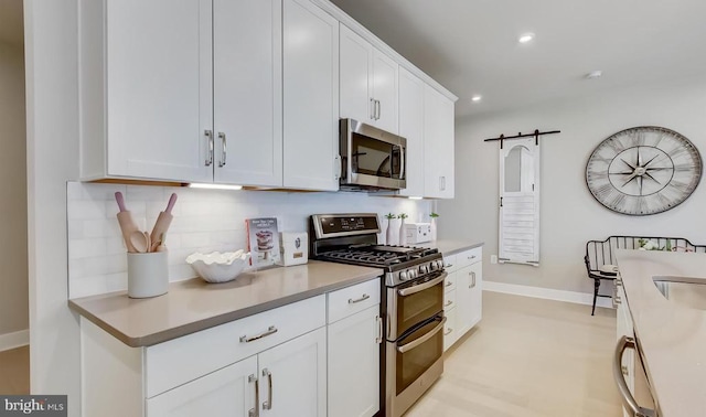
[[[407,139],[341,119],[342,190],[402,190],[407,186]]]

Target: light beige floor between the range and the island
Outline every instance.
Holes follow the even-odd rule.
[[[485,291],[483,320],[405,417],[620,417],[616,312],[596,310]]]

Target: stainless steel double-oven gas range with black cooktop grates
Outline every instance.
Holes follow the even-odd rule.
[[[384,269],[386,338],[381,352],[381,414],[402,416],[443,372],[443,259],[437,249],[377,244],[377,214],[311,216],[320,260]]]

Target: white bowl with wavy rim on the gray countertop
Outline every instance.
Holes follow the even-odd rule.
[[[189,255],[186,264],[203,278],[206,282],[227,282],[237,278],[248,265],[250,253],[237,252],[212,252],[202,254],[200,252]]]

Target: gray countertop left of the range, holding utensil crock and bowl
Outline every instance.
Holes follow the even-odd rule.
[[[225,284],[172,282],[154,298],[131,299],[121,291],[68,300],[68,307],[129,346],[149,346],[381,275],[376,268],[310,260]]]

